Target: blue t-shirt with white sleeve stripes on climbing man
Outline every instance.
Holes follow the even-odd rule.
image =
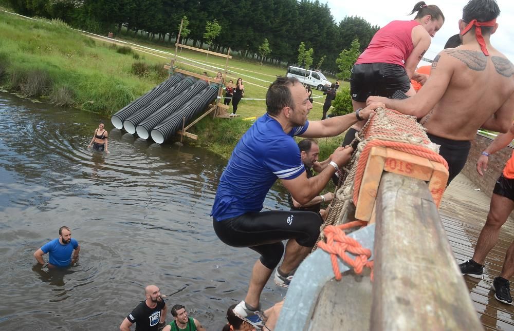
[[[223,221],[247,212],[261,211],[273,183],[295,179],[305,171],[300,149],[292,137],[307,130],[304,126],[285,133],[267,113],[246,131],[237,143],[227,168],[219,179],[211,216]]]

